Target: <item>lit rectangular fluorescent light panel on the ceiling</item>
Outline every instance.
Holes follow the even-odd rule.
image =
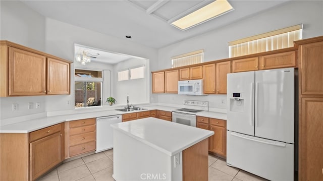
[[[234,10],[227,0],[217,0],[172,23],[173,26],[186,30],[208,20]]]

